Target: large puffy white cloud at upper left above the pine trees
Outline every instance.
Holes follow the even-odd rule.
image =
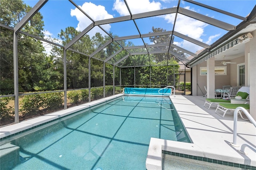
[[[109,18],[113,18],[112,15],[108,14],[104,6],[98,5],[91,2],[85,2],[82,6],[79,6],[88,16],[90,16],[94,21],[97,20],[105,20]],[[71,9],[70,12],[71,16],[75,16],[78,20],[78,25],[76,27],[76,30],[83,31],[85,28],[87,28],[90,24],[92,24],[92,21],[87,18],[78,8],[75,8],[74,10]],[[107,32],[110,31],[110,24],[105,24],[102,26]],[[94,36],[96,32],[100,32],[101,34],[105,34],[99,27],[94,27],[90,31],[90,36]]]

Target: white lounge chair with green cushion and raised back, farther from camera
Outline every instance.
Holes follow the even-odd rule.
[[[235,98],[236,96],[241,96],[242,99],[248,99],[248,96],[250,93],[248,91],[248,88],[249,87],[245,87],[240,90],[240,87],[239,88],[231,87],[230,93],[228,94],[229,97],[227,99],[206,99],[205,103],[204,103],[204,107],[210,109],[212,104],[215,104],[216,107],[218,107],[219,103],[231,103],[230,99]],[[234,96],[234,93],[236,93],[235,96]],[[207,107],[207,105],[209,105],[209,106]]]

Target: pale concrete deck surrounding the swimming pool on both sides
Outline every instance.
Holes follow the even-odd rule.
[[[104,103],[122,95],[106,97],[91,103],[2,127],[0,128],[0,138],[17,134],[42,123]],[[216,109],[214,106],[208,110],[204,107],[205,98],[202,96],[176,95],[175,97],[171,96],[171,99],[192,143],[151,138],[146,160],[146,168],[148,170],[162,169],[162,150],[256,166],[256,153],[253,150],[247,147],[245,152],[248,154],[244,155],[237,151],[240,147],[236,148],[230,145],[230,142],[233,142],[233,115],[227,113],[222,118],[214,113]],[[256,128],[254,125],[249,121],[244,121],[240,116],[238,116],[237,125],[237,144],[240,146],[248,144],[256,148]]]

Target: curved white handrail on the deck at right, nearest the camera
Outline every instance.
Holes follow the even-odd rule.
[[[237,107],[234,111],[233,143],[230,143],[232,146],[235,146],[235,147],[239,147],[239,145],[236,144],[236,136],[237,136],[237,116],[238,116],[238,111],[240,110],[244,112],[244,114],[249,118],[249,120],[254,125],[254,127],[256,127],[256,121],[254,121],[250,113],[243,107]]]

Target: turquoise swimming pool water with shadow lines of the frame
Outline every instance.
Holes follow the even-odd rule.
[[[169,97],[124,96],[11,141],[21,169],[145,170],[150,138],[190,142]]]

